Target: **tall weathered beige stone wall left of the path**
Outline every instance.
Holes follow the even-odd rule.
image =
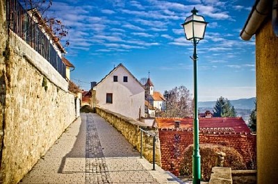
[[[76,119],[76,110],[67,81],[17,35],[8,33],[5,6],[0,0],[0,183],[13,184]]]

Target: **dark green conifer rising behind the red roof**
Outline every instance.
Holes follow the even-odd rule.
[[[236,117],[236,110],[234,106],[231,106],[230,101],[224,97],[220,97],[217,99],[214,110],[213,110],[214,117]]]

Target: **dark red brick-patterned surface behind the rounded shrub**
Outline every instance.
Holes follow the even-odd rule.
[[[192,131],[161,131],[161,165],[162,168],[179,175],[179,167],[183,159],[183,151],[193,144]],[[256,135],[245,134],[199,134],[199,144],[218,144],[232,147],[243,156],[245,165],[256,159]],[[201,156],[202,161],[202,156]]]

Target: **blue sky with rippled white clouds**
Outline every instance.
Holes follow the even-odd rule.
[[[163,93],[185,85],[193,93],[193,44],[181,24],[195,7],[206,22],[197,45],[199,101],[256,96],[255,42],[240,39],[254,1],[54,0],[51,10],[70,26],[66,58],[85,90],[122,63]]]

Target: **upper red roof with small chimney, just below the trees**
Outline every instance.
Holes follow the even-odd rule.
[[[193,117],[184,118],[156,118],[158,128],[174,128],[174,121],[181,121],[180,128],[193,128]],[[200,117],[199,128],[225,128],[235,133],[251,133],[242,117]]]

